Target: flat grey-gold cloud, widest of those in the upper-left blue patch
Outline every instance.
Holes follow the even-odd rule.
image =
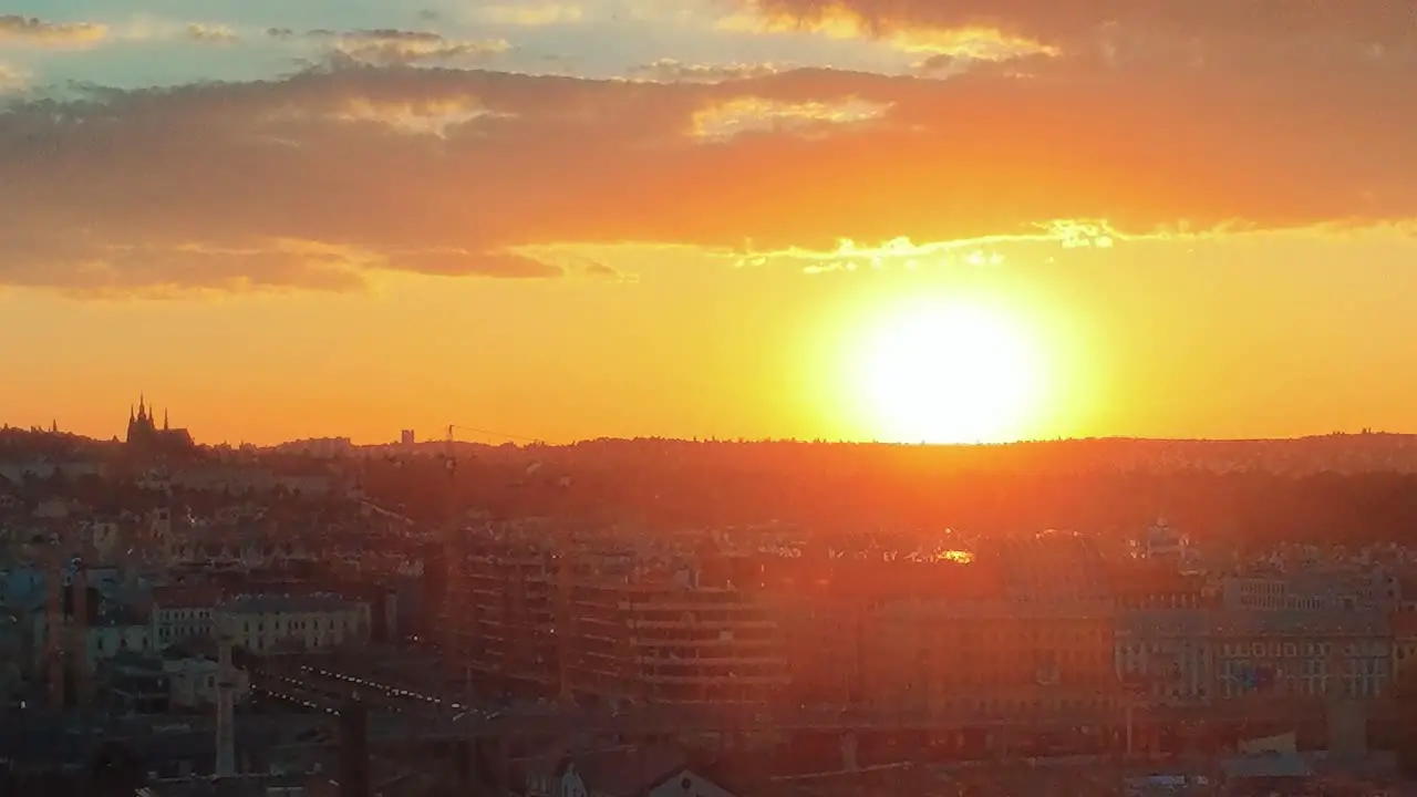
[[[319,45],[336,60],[381,67],[478,62],[512,48],[507,41],[496,38],[453,40],[431,31],[390,28],[346,33],[312,30],[303,34],[290,28],[268,28],[266,35],[281,41]]]

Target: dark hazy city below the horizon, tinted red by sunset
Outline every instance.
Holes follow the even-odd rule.
[[[870,485],[876,525],[801,508],[813,462],[979,474],[995,447],[232,450],[159,417],[143,397],[115,441],[0,431],[13,793],[1209,793],[1396,787],[1417,764],[1417,552],[1379,526],[1226,539],[1186,506],[1114,505],[1091,529],[964,532],[893,520]],[[1064,516],[1078,479],[1410,478],[1401,435],[1183,467],[1148,441],[1020,445],[1090,442],[1111,451],[1085,471],[988,478]],[[1312,469],[1240,472],[1240,448]],[[1345,451],[1376,465],[1342,474]],[[1413,484],[1382,512],[1417,513]]]

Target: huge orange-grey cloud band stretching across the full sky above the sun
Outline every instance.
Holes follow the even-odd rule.
[[[20,96],[0,111],[0,184],[24,186],[0,191],[0,282],[351,289],[582,272],[537,254],[557,245],[808,267],[843,238],[854,261],[897,240],[988,257],[947,244],[1417,218],[1410,61],[1058,61],[679,84],[326,64]]]

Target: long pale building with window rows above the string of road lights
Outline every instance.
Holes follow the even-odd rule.
[[[370,634],[368,604],[330,594],[241,596],[213,620],[218,634],[255,654],[364,645]]]

